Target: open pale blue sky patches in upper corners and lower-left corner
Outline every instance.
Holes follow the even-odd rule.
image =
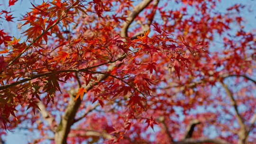
[[[1,0],[0,9],[7,10],[9,9],[7,7],[9,0]],[[0,29],[5,29],[7,32],[11,34],[11,36],[15,36],[17,38],[20,38],[20,34],[22,31],[17,30],[17,23],[16,20],[20,19],[22,15],[26,14],[26,11],[29,11],[29,8],[31,8],[30,1],[34,4],[41,3],[43,0],[18,0],[17,4],[11,7],[11,11],[13,11],[15,22],[5,22],[4,20],[0,20]],[[140,1],[140,0],[134,0],[134,1]],[[242,4],[249,4],[251,12],[243,11],[244,17],[247,19],[247,30],[256,29],[255,23],[256,23],[256,0],[222,0],[221,3],[218,5],[219,11],[223,11],[235,3],[242,3]],[[32,139],[40,136],[39,134],[31,134],[31,132],[25,131],[25,130],[13,130],[14,132],[8,132],[8,135],[6,136],[6,144],[27,144],[28,141],[31,141]]]

